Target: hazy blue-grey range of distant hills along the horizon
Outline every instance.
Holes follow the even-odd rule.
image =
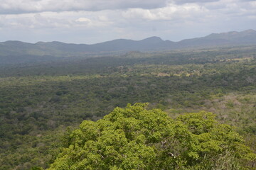
[[[68,44],[64,42],[37,42],[35,44],[6,41],[0,42],[0,64],[16,62],[37,62],[55,60],[55,57],[93,57],[129,51],[161,51],[186,48],[205,48],[219,46],[256,45],[256,31],[213,33],[203,38],[193,38],[172,42],[159,37],[144,40],[111,40],[93,45]]]

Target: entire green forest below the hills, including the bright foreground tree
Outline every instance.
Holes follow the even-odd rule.
[[[256,169],[256,47],[0,67],[0,169]]]

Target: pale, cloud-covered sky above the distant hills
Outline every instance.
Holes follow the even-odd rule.
[[[179,41],[256,30],[250,0],[0,0],[0,41]]]

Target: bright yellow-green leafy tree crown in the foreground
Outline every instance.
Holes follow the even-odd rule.
[[[242,169],[255,159],[242,137],[212,113],[175,120],[146,103],[115,108],[97,122],[85,120],[65,137],[53,169]]]

